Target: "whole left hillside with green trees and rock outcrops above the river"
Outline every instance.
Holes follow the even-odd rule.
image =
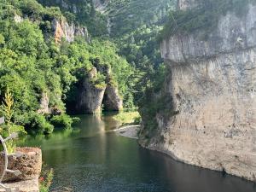
[[[90,39],[67,13],[35,0],[1,1],[0,11],[0,100],[9,88],[16,125],[50,133],[53,125],[71,126],[70,106],[72,113],[97,113],[102,102],[106,110],[132,104],[127,79],[133,69],[113,43]]]

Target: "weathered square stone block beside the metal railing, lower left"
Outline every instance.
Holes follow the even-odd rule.
[[[20,157],[9,157],[10,170],[19,170],[20,176],[7,173],[3,182],[17,182],[38,179],[42,166],[42,152],[40,148],[16,148],[16,151],[22,153]],[[4,157],[0,155],[0,172],[3,172]]]

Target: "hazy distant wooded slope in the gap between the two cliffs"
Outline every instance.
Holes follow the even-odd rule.
[[[175,1],[111,0],[108,15],[112,27],[110,37],[118,44],[119,54],[136,70],[129,79],[130,93],[136,105],[163,62],[157,35]]]

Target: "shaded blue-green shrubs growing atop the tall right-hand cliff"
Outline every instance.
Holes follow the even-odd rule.
[[[222,15],[229,11],[236,15],[245,15],[248,3],[255,3],[255,0],[206,0],[201,1],[199,9],[172,11],[159,39],[198,30],[204,31],[203,38],[207,38],[207,34],[218,26]]]

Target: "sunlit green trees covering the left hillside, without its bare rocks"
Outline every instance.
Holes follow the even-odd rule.
[[[107,83],[118,86],[125,106],[132,106],[127,82],[133,67],[117,54],[113,43],[95,39],[88,44],[77,37],[73,43],[63,40],[55,44],[48,33],[52,32],[53,19],[63,19],[60,9],[45,8],[35,0],[0,0],[0,3],[0,101],[9,87],[15,98],[12,119],[16,124],[30,132],[51,133],[54,126],[49,123],[50,117],[38,113],[42,96],[47,93],[50,109],[65,113],[65,103],[77,94],[76,84],[88,76],[93,67],[108,67],[110,73],[97,70],[91,82],[99,88]],[[64,14],[74,20],[73,14]],[[15,22],[15,15],[26,19]],[[94,62],[96,58],[98,66]],[[61,114],[50,122],[71,127],[73,119]]]

